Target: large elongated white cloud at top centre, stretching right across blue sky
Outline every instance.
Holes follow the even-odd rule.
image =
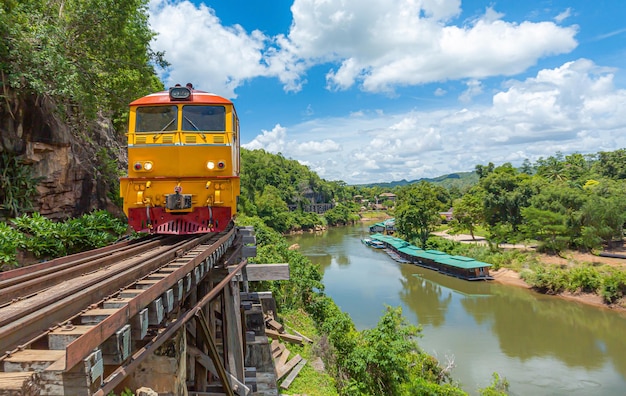
[[[458,0],[296,0],[292,11],[289,46],[278,52],[304,63],[338,63],[326,75],[334,90],[513,75],[577,45],[576,27],[506,22],[491,8],[466,26],[448,25],[460,13]]]

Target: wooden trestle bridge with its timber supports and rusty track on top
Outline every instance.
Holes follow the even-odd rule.
[[[254,230],[151,237],[0,273],[0,395],[277,395]]]

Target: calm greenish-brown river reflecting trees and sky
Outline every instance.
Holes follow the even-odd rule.
[[[385,305],[423,328],[420,346],[471,394],[497,371],[511,395],[626,395],[626,316],[493,282],[468,282],[366,247],[366,225],[289,237],[358,329]]]

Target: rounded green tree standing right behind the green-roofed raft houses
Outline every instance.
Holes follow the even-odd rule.
[[[441,222],[439,212],[444,204],[438,200],[439,189],[422,181],[411,184],[398,193],[396,229],[409,241],[418,239],[422,247],[430,233]]]

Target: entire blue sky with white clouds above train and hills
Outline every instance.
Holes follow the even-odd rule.
[[[623,0],[150,0],[166,87],[326,180],[626,148]]]

